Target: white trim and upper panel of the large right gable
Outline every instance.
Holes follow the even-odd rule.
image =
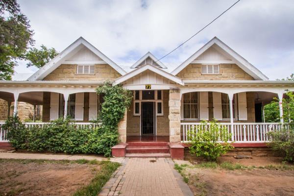
[[[269,78],[250,64],[233,49],[225,45],[217,37],[214,37],[201,49],[197,50],[191,57],[172,71],[176,75],[190,63],[203,64],[236,64],[255,80],[268,80]]]

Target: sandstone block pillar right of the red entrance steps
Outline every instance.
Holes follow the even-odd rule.
[[[181,142],[181,94],[170,89],[169,96],[170,142]]]

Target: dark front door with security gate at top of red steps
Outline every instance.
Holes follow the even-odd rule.
[[[142,135],[154,135],[154,102],[142,102],[141,131]]]

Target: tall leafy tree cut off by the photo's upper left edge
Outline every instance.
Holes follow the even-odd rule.
[[[0,80],[11,80],[16,60],[34,44],[33,34],[16,0],[0,0]]]

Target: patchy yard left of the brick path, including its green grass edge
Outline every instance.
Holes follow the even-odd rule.
[[[0,196],[97,196],[119,166],[84,159],[0,159]]]

